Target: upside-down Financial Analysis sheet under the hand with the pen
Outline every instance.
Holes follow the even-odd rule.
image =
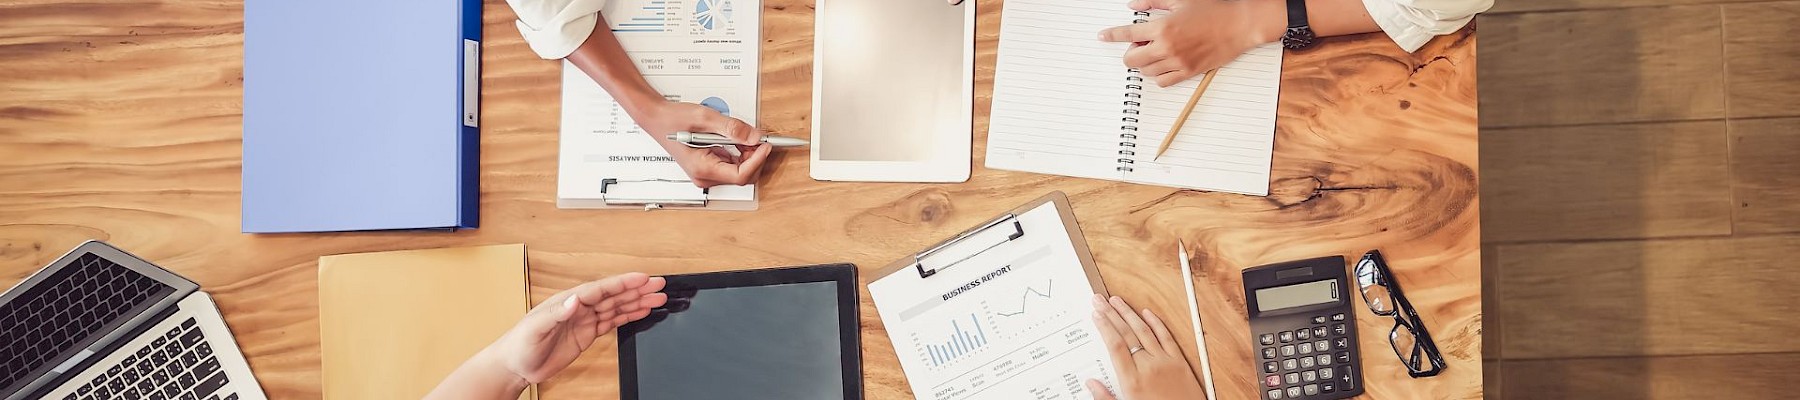
[[[601,14],[664,97],[756,124],[761,0],[610,0]],[[644,133],[569,61],[562,81],[558,207],[605,207],[607,198],[625,198],[754,209],[754,186],[695,187],[661,139]]]

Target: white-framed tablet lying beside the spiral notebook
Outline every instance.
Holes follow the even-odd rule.
[[[812,178],[968,180],[976,2],[819,0]]]

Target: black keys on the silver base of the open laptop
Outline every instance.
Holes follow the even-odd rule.
[[[238,393],[221,391],[227,384],[230,377],[189,317],[63,398],[238,400]]]

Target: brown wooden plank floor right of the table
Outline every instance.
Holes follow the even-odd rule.
[[[1784,398],[1800,2],[1480,18],[1487,398]]]

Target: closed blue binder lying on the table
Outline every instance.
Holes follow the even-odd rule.
[[[243,231],[472,229],[481,2],[250,0]]]

